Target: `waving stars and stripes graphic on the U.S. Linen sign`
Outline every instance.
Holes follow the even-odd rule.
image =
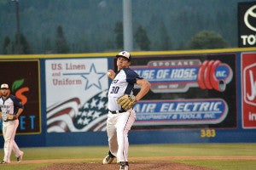
[[[108,90],[88,99],[84,105],[79,98],[47,108],[47,132],[106,131],[108,115]]]

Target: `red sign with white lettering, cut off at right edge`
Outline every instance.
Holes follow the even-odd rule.
[[[241,54],[242,126],[256,128],[256,53]]]

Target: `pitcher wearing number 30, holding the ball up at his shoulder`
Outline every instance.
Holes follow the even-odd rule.
[[[132,124],[135,122],[136,113],[131,108],[125,111],[121,105],[117,103],[117,99],[123,94],[133,94],[134,85],[141,87],[136,95],[136,100],[139,101],[144,95],[148,94],[150,83],[139,77],[135,71],[132,71],[131,54],[126,51],[116,55],[118,71],[108,70],[108,77],[113,80],[108,91],[108,119],[107,133],[109,151],[102,163],[110,164],[116,157],[120,163],[120,170],[128,170],[128,132]]]

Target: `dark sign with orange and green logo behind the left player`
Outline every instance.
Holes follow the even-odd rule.
[[[24,105],[17,133],[41,133],[39,61],[1,60],[0,77]]]

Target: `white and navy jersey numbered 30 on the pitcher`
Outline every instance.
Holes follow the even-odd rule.
[[[117,103],[117,99],[123,94],[133,94],[132,90],[139,77],[135,71],[125,68],[117,72],[108,90],[108,110],[120,111],[121,106]]]

